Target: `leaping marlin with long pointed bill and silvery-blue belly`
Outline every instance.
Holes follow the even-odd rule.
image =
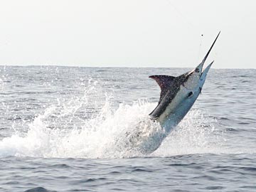
[[[218,36],[219,35],[220,32],[218,33]],[[215,38],[215,41],[218,36]],[[213,48],[215,41],[202,62],[195,69],[178,77],[169,75],[149,76],[149,78],[156,80],[161,88],[159,103],[149,114],[150,119],[153,119],[154,122],[158,122],[161,125],[161,130],[156,130],[156,132],[143,138],[141,131],[137,132],[135,137],[130,137],[132,143],[135,141],[137,143],[135,146],[137,146],[139,151],[143,154],[149,154],[158,149],[164,138],[181,122],[194,102],[196,102],[198,95],[201,94],[210,66],[213,64],[213,62],[211,62],[205,70],[203,70],[203,64],[206,62],[206,58]]]

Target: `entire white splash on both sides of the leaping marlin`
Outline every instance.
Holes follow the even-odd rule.
[[[95,89],[95,83],[80,97],[58,99],[56,105],[48,107],[28,124],[25,136],[17,133],[0,141],[0,156],[85,159],[144,156],[136,147],[127,146],[127,132],[139,129],[149,135],[158,130],[159,124],[148,116],[156,103],[138,100],[133,105],[120,104],[114,110],[109,97],[105,95],[104,99]],[[95,95],[101,97],[97,101],[102,102],[92,102]],[[89,108],[96,112],[87,118]],[[81,112],[85,115],[81,116]],[[151,156],[218,151],[223,139],[215,134],[213,124],[213,118],[203,116],[200,110],[192,110]]]

